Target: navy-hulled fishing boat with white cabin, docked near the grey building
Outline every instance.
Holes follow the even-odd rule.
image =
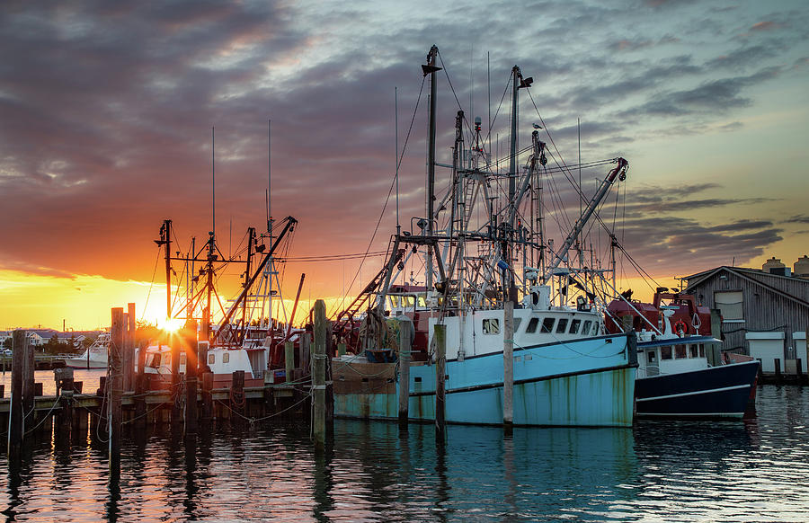
[[[658,288],[652,304],[617,299],[608,330],[621,322],[637,333],[636,414],[657,417],[741,418],[755,399],[759,362],[717,350],[710,311],[696,297]]]

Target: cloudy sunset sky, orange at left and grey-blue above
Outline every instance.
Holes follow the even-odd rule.
[[[629,161],[602,217],[656,282],[792,266],[809,253],[807,32],[804,0],[3,2],[0,328],[94,328],[128,302],[159,318],[163,220],[178,251],[215,228],[230,255],[266,228],[268,185],[272,217],[298,219],[285,298],[305,272],[301,310],[337,307],[382,263],[340,257],[395,231],[397,155],[400,221],[424,215],[433,44],[440,163],[458,103],[505,150],[519,65],[522,145],[541,120],[556,159]],[[582,173],[586,194],[606,169]],[[636,276],[622,258],[619,287],[648,290]]]

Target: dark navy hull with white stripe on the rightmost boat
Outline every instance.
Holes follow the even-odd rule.
[[[755,386],[758,361],[636,380],[636,413],[659,417],[741,418]]]

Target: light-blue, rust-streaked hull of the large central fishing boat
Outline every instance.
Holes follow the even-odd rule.
[[[514,424],[631,426],[636,368],[629,352],[626,335],[515,350]],[[449,360],[446,421],[502,424],[502,368],[502,352]],[[333,369],[335,415],[397,418],[396,364],[335,359]],[[412,364],[410,377],[410,419],[434,421],[435,366]]]

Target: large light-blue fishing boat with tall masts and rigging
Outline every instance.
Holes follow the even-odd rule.
[[[489,161],[480,119],[473,127],[458,111],[449,186],[437,196],[437,58],[433,46],[422,66],[431,83],[426,217],[414,217],[410,230],[397,228],[382,270],[337,317],[334,332],[349,353],[332,360],[335,415],[396,419],[406,394],[413,421],[443,415],[450,423],[502,424],[511,413],[515,425],[631,425],[634,337],[604,331],[586,290],[591,270],[566,263],[609,188],[625,179],[627,161],[604,162],[614,166],[555,250],[541,226],[547,157],[537,130],[525,168],[517,167],[517,95],[532,80],[515,66],[508,172]],[[423,281],[396,283],[419,258]],[[399,348],[409,331],[412,358]],[[504,408],[507,392],[512,412]]]

